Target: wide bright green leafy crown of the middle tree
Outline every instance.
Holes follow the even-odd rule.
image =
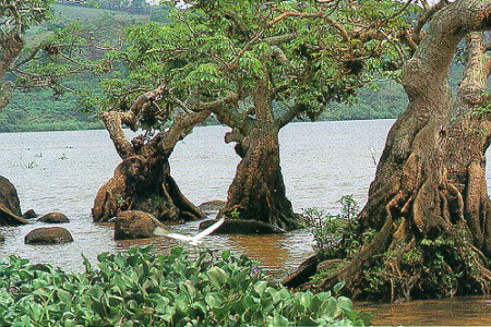
[[[172,9],[166,25],[129,28],[128,49],[118,58],[124,59],[131,83],[107,81],[109,102],[124,107],[132,102],[130,86],[149,89],[163,83],[168,106],[194,108],[200,101],[236,95],[239,102],[225,116],[244,111],[249,121],[258,112],[248,99],[264,82],[272,101],[315,119],[326,104],[347,100],[357,87],[372,83],[374,74],[396,74],[382,68],[397,60],[391,43],[368,40],[359,28],[380,20],[378,31],[391,34],[405,25],[385,20],[397,8],[385,1],[363,2],[357,9],[349,1],[334,8],[316,1],[195,1],[185,11]],[[155,82],[151,86],[148,81]]]

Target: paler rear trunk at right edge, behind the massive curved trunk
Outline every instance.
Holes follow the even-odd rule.
[[[491,116],[481,110],[491,72],[482,34],[467,37],[468,61],[458,89],[458,106],[448,129],[447,179],[454,192],[448,198],[448,216],[466,222],[472,244],[491,258],[491,206],[486,182],[486,152],[491,140]],[[458,192],[457,192],[458,191]]]

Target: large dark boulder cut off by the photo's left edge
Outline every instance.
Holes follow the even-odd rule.
[[[17,191],[8,179],[0,175],[0,226],[29,223],[21,215]]]

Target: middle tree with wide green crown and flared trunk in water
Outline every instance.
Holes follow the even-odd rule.
[[[158,60],[152,71],[167,82],[171,101],[202,110],[201,101],[235,99],[211,109],[232,129],[225,140],[237,144],[241,157],[223,215],[298,227],[278,132],[296,118],[315,120],[332,101],[348,100],[375,80],[383,61],[396,60],[383,39],[402,24],[392,20],[397,5],[369,2],[193,1],[176,9],[166,26],[133,29],[139,60]]]

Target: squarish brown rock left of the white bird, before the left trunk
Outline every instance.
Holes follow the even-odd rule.
[[[156,227],[164,228],[164,225],[148,213],[121,211],[116,218],[115,240],[154,238]]]

